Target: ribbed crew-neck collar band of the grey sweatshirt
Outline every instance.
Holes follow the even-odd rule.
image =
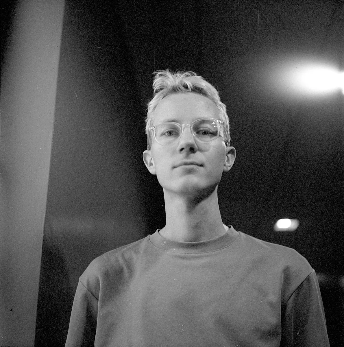
[[[174,253],[206,253],[217,251],[231,245],[239,235],[240,232],[230,226],[224,235],[215,239],[199,242],[178,242],[164,238],[160,235],[158,229],[154,234],[149,235],[148,239],[153,246],[164,251]]]

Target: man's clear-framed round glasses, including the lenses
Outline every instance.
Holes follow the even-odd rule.
[[[189,127],[191,133],[197,141],[209,142],[218,136],[222,136],[226,146],[229,146],[229,136],[222,119],[201,118],[196,119],[191,124],[179,124],[176,122],[165,122],[156,124],[148,130],[153,133],[155,141],[162,146],[169,146],[178,142],[184,129]]]

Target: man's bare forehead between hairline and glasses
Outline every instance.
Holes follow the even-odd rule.
[[[187,92],[166,96],[154,111],[154,124],[176,121],[189,123],[198,118],[219,118],[215,103],[204,95]]]

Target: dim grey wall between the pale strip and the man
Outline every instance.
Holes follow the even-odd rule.
[[[147,235],[144,111],[115,3],[65,7],[35,346],[62,346],[78,278]]]

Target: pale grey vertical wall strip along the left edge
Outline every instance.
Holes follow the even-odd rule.
[[[1,346],[34,345],[63,7],[17,2],[1,63]]]

